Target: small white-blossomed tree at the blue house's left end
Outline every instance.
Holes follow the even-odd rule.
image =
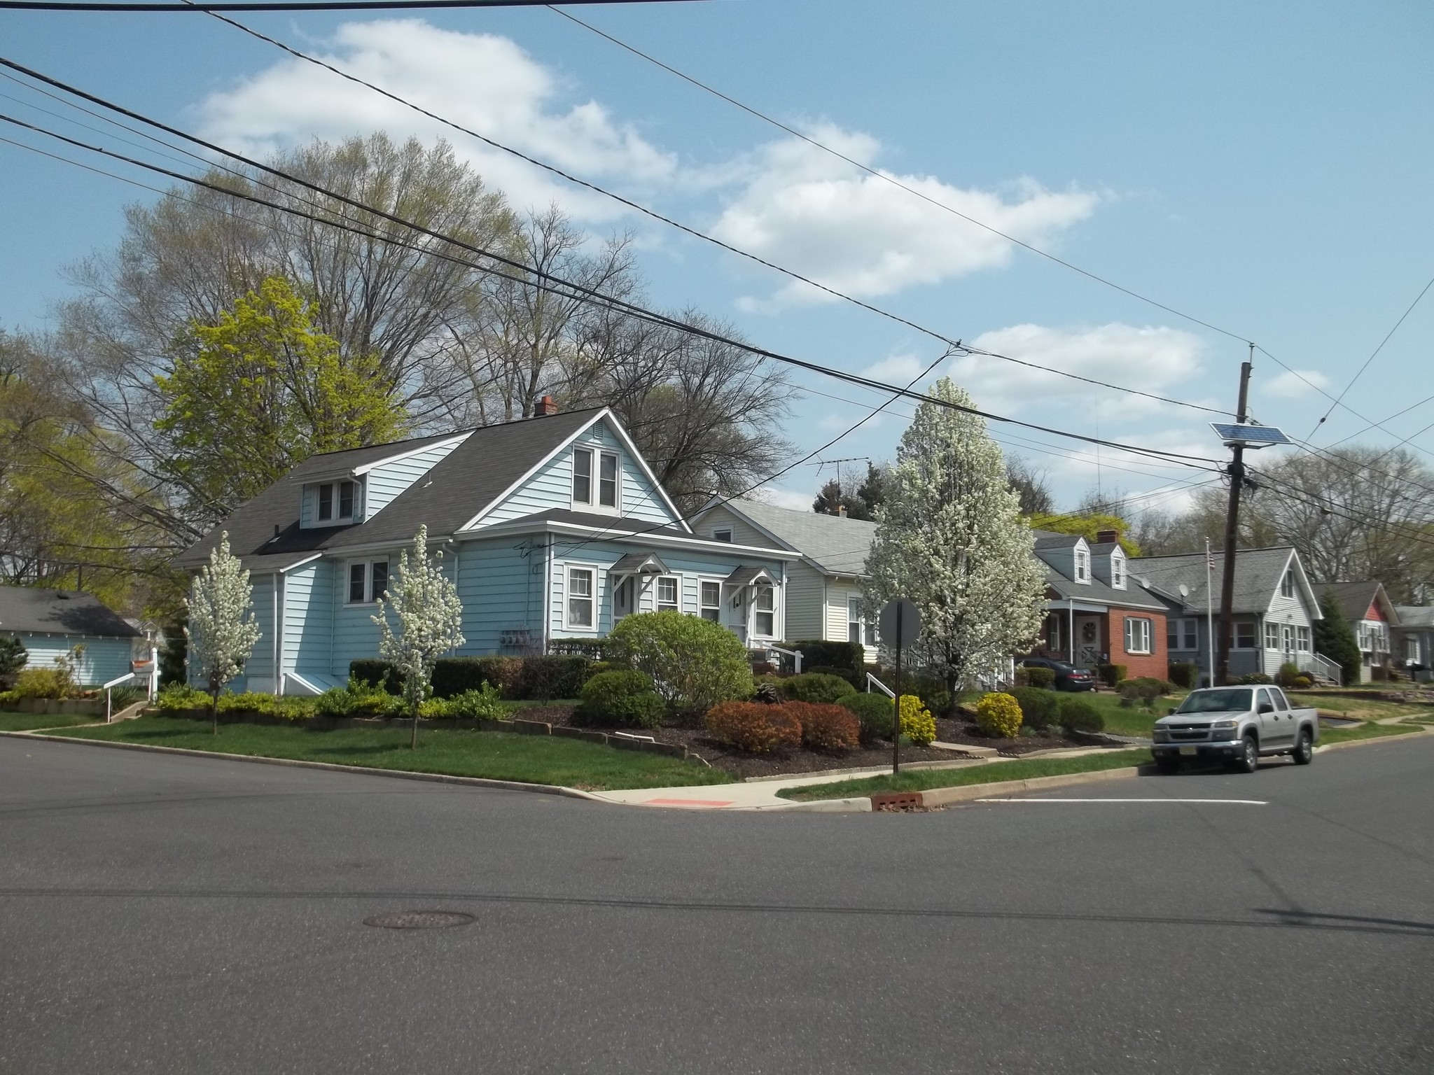
[[[239,674],[260,641],[250,573],[229,552],[228,532],[219,535],[219,548],[209,552],[208,566],[194,576],[185,603],[189,666],[209,691],[209,731],[218,735],[219,691]]]

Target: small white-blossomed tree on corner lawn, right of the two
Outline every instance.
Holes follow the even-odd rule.
[[[433,664],[463,645],[463,606],[457,586],[443,575],[443,550],[429,556],[429,527],[413,536],[413,558],[399,555],[399,573],[377,598],[379,654],[403,677],[403,699],[413,714],[410,747],[419,744],[419,707],[429,697]],[[399,631],[389,625],[384,601],[393,608]]]

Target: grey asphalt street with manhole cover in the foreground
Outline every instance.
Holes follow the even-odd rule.
[[[0,738],[0,1072],[1434,1071],[1434,741],[1044,798],[1127,801],[683,813]],[[364,924],[402,910],[473,922]]]

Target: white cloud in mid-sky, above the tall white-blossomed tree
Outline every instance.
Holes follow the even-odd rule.
[[[835,126],[813,138],[870,165],[879,143]],[[734,247],[786,265],[853,295],[889,295],[936,284],[1011,259],[1012,244],[892,183],[802,142],[784,139],[754,153],[739,169],[743,183],[713,234]],[[931,176],[896,175],[903,185],[1007,235],[1041,247],[1090,216],[1098,195],[1017,183],[1012,196],[962,189]],[[793,281],[770,300],[744,300],[749,310],[829,300]]]

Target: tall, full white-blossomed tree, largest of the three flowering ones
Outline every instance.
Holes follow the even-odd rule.
[[[945,377],[928,394],[974,406]],[[1034,545],[985,421],[922,403],[886,477],[868,603],[911,598],[922,616],[913,655],[956,688],[1035,641],[1045,570]]]

